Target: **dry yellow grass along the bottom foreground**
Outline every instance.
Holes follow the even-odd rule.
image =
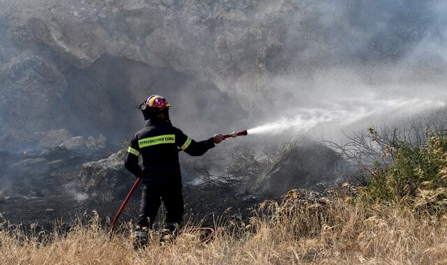
[[[344,199],[324,211],[227,224],[206,245],[185,232],[175,243],[134,251],[129,234],[110,241],[97,220],[44,243],[0,232],[0,264],[447,264],[446,218]]]

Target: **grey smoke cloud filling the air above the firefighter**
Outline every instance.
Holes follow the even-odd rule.
[[[296,126],[283,132],[339,128],[445,101],[444,0],[0,6],[1,105],[8,109],[0,129],[12,137],[67,128],[119,140],[144,125],[134,106],[154,93],[168,98],[175,125],[193,137],[286,121]],[[45,113],[57,119],[17,107],[43,87],[51,95]],[[42,113],[39,106],[27,113]]]

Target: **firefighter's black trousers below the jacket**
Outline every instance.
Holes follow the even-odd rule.
[[[165,222],[177,222],[183,220],[184,203],[182,188],[163,188],[153,185],[142,185],[140,216],[137,225],[152,229],[156,214],[161,206],[161,201],[165,204]]]

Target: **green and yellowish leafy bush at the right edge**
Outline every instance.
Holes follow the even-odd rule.
[[[372,172],[364,190],[373,202],[444,213],[447,204],[447,135],[433,135],[423,146],[396,144],[394,163]]]

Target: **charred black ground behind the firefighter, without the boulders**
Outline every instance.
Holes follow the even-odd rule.
[[[124,198],[112,202],[90,199],[82,188],[80,171],[85,162],[107,158],[116,151],[117,148],[55,149],[46,156],[0,152],[0,223],[9,227],[21,225],[26,229],[37,225],[51,230],[56,223],[71,225],[79,218],[89,218],[93,211],[103,222],[110,222]],[[264,199],[272,197],[236,194],[222,186],[186,185],[184,218],[211,226],[232,216],[247,220]],[[135,192],[120,223],[135,221],[139,200],[140,192]],[[158,218],[162,220],[163,214]]]

